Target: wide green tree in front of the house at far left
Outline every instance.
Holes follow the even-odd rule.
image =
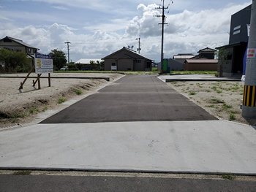
[[[24,72],[29,68],[29,58],[26,53],[0,49],[0,63],[4,64],[5,72]]]

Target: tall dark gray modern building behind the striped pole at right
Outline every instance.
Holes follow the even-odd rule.
[[[227,60],[224,64],[218,64],[219,76],[237,76],[243,73],[243,58],[248,43],[247,25],[251,20],[252,5],[241,9],[231,15],[229,44],[217,47],[224,48],[227,52]]]

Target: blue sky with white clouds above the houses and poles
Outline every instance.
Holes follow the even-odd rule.
[[[161,0],[1,0],[0,38],[22,39],[40,53],[59,49],[72,61],[103,58],[121,49],[138,48],[160,61]],[[231,15],[251,4],[248,0],[165,0],[165,58],[194,53],[228,43]]]

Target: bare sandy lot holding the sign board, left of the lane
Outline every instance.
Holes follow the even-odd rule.
[[[6,78],[8,76],[10,78]],[[52,77],[81,79],[52,78],[50,87],[48,79],[41,79],[40,90],[37,89],[37,85],[32,86],[32,80],[36,80],[36,75],[31,74],[34,79],[28,79],[23,89],[19,90],[20,82],[24,79],[18,77],[25,76],[26,74],[0,74],[0,128],[29,123],[40,112],[59,107],[64,101],[90,93],[108,83],[106,80],[97,80],[97,77],[109,77],[110,81],[113,81],[122,74],[51,74]],[[43,76],[47,77],[47,74]],[[84,77],[89,79],[83,79]]]

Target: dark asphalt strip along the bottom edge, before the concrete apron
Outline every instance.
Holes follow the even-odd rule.
[[[0,174],[0,191],[256,191],[255,181]]]

